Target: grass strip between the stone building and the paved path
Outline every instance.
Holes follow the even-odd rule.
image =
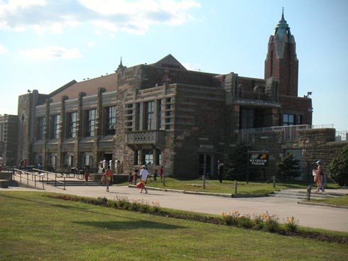
[[[123,183],[124,185],[128,184]],[[218,180],[207,180],[205,189],[202,187],[202,180],[179,180],[170,177],[165,178],[165,186],[159,181],[153,182],[148,180],[148,187],[157,187],[161,189],[179,189],[185,191],[202,191],[212,193],[234,194],[234,181],[224,180],[222,184]],[[266,195],[278,191],[280,189],[307,189],[308,184],[303,183],[276,183],[276,188],[273,188],[273,183],[266,182],[237,182],[237,194],[251,195]],[[338,185],[328,184],[330,189],[339,188]]]

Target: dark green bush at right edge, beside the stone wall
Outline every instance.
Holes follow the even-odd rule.
[[[348,145],[337,152],[327,167],[329,177],[344,186],[348,184]]]

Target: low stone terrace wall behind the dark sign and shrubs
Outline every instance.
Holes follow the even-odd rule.
[[[240,142],[241,134],[234,134],[233,143]],[[266,178],[273,175],[278,177],[277,163],[286,155],[289,150],[300,150],[301,178],[304,181],[311,180],[312,169],[317,167],[317,160],[321,160],[324,167],[330,164],[338,150],[348,145],[348,141],[336,142],[334,128],[318,128],[296,130],[293,138],[287,139],[283,131],[249,134],[244,142],[251,145],[252,150],[268,152],[269,161],[266,168]],[[261,177],[260,177],[261,178]],[[281,179],[281,177],[278,177]]]

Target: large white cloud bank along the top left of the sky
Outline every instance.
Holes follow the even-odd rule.
[[[0,30],[62,33],[89,23],[99,30],[141,34],[153,24],[182,25],[199,7],[196,0],[0,0]]]

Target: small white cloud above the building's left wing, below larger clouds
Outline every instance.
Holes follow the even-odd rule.
[[[21,50],[21,55],[36,60],[71,60],[82,57],[77,48],[70,50],[60,46],[48,46],[43,49]]]

